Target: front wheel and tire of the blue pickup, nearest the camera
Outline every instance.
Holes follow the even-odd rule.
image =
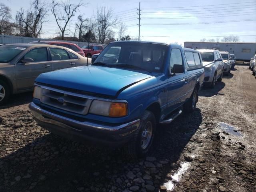
[[[155,132],[156,118],[151,111],[146,110],[140,118],[140,125],[132,139],[124,146],[124,153],[131,158],[145,156],[152,146]]]

